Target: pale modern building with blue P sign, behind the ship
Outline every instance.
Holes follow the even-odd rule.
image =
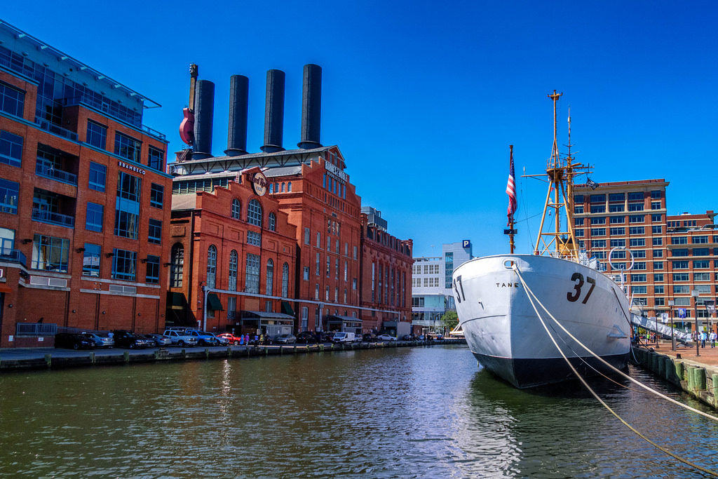
[[[442,256],[414,258],[411,274],[411,325],[414,332],[442,331],[441,317],[455,310],[454,269],[473,258],[471,241],[442,245]]]

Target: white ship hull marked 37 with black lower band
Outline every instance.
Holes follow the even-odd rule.
[[[561,325],[612,366],[625,368],[630,350],[630,308],[620,287],[588,266],[526,254],[486,256],[467,261],[454,271],[459,322],[482,366],[517,388],[574,378],[541,325],[521,279],[511,269],[511,261]],[[537,303],[536,308],[579,371],[606,369]]]

